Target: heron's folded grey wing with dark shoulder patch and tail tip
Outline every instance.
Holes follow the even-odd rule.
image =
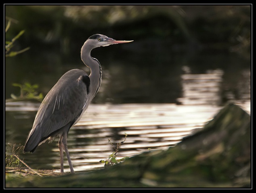
[[[68,124],[69,128],[73,125],[86,106],[88,84],[89,77],[83,70],[78,69],[66,72],[59,79],[38,109],[25,148],[30,146],[33,150],[40,142],[56,134],[59,129]]]

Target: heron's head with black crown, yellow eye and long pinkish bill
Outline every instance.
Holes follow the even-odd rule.
[[[117,44],[117,43],[129,43],[131,41],[117,41],[115,39],[112,39],[110,37],[107,37],[105,35],[101,35],[101,34],[94,34],[92,36],[90,36],[87,41],[90,41],[90,44],[93,46],[93,47],[100,47],[100,46],[108,46],[108,45],[111,45],[111,44]]]

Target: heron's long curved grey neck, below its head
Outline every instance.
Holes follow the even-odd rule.
[[[84,43],[81,50],[81,59],[84,64],[90,68],[90,99],[92,99],[98,92],[101,86],[101,64],[96,58],[91,57],[92,48],[87,48]]]

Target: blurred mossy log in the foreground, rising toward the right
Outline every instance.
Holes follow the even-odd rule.
[[[92,172],[6,176],[6,187],[251,187],[251,118],[229,104],[203,129],[166,151],[149,151]]]

